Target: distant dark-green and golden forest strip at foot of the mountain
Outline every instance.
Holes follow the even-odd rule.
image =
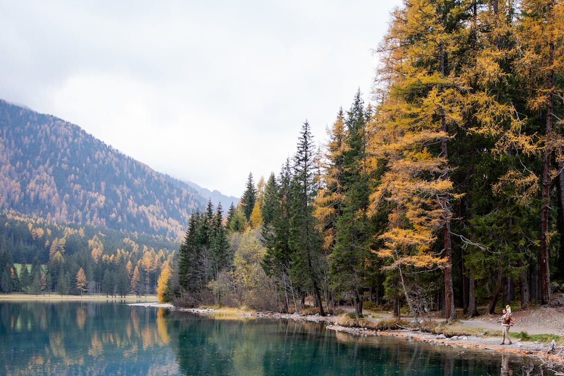
[[[163,236],[0,214],[0,292],[155,294],[178,244]]]

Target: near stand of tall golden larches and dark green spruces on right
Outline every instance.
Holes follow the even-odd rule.
[[[416,321],[549,304],[564,282],[563,51],[559,0],[404,1],[374,51],[375,104],[356,92],[323,145],[305,122],[224,225],[192,215],[161,299]]]

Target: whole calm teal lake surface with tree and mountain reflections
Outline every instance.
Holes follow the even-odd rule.
[[[116,303],[0,301],[0,375],[541,374],[532,361],[355,337],[311,322],[214,320]]]

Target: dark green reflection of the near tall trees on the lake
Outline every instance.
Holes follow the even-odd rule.
[[[502,369],[499,353],[358,338],[311,322],[198,317],[171,325],[171,346],[186,375],[500,375]],[[509,373],[501,374],[540,372],[538,365],[525,372],[523,364],[522,357],[506,356]]]

